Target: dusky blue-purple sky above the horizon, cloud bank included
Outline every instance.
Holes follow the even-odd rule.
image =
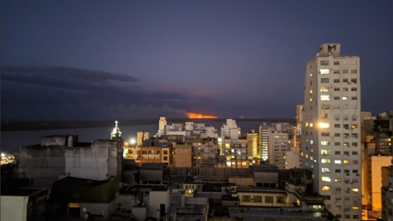
[[[323,43],[392,110],[392,0],[1,1],[1,118],[294,117]]]

